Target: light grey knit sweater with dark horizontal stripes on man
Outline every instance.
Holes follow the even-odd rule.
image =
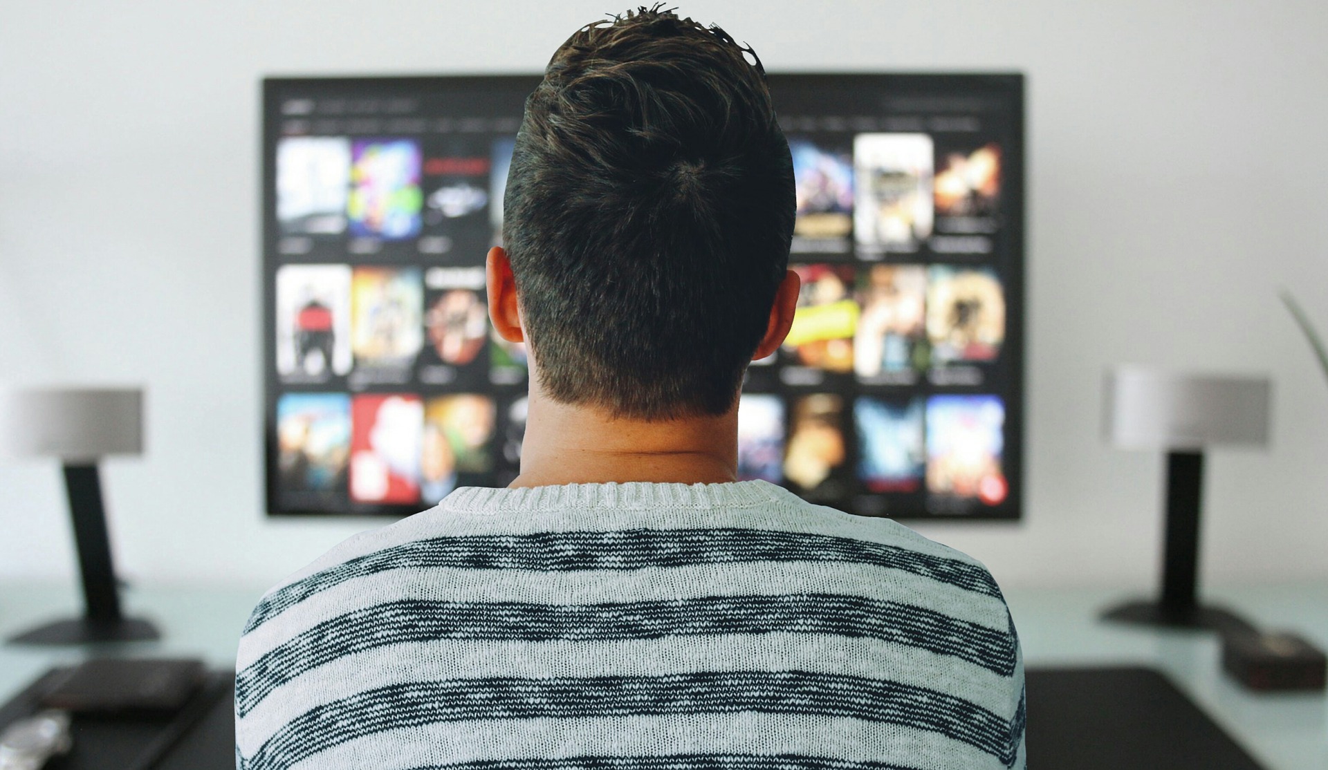
[[[765,482],[461,489],[270,591],[243,770],[1024,766],[1000,589]]]

